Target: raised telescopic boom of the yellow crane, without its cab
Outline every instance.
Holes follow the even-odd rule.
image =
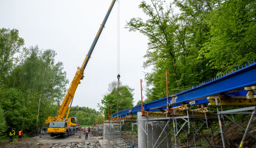
[[[106,13],[106,16],[105,16],[102,24],[100,25],[100,29],[97,32],[96,37],[95,37],[95,39],[93,41],[93,44],[91,45],[90,50],[88,51],[88,54],[86,55],[85,60],[84,60],[84,62],[82,64],[82,68],[79,68],[79,67],[77,68],[75,76],[74,76],[74,78],[73,78],[73,80],[72,80],[72,82],[71,82],[71,84],[69,86],[69,89],[68,89],[68,91],[67,91],[67,93],[65,95],[65,98],[62,101],[62,103],[60,105],[60,108],[58,110],[58,113],[59,113],[58,117],[48,117],[48,120],[46,120],[46,124],[48,124],[48,122],[50,122],[50,120],[51,121],[55,121],[55,120],[61,121],[62,118],[64,118],[64,116],[65,116],[65,114],[67,112],[67,109],[69,107],[69,104],[70,104],[72,98],[74,98],[74,94],[75,94],[76,88],[81,83],[80,80],[83,79],[83,77],[84,77],[83,75],[84,75],[84,70],[86,68],[86,65],[87,65],[87,63],[89,61],[89,58],[91,57],[91,54],[93,53],[93,50],[94,50],[94,48],[95,48],[95,46],[96,46],[96,44],[97,44],[97,42],[99,40],[101,32],[102,32],[103,28],[105,27],[106,21],[108,20],[108,17],[109,17],[109,15],[110,15],[113,7],[114,7],[115,1],[116,0],[112,1],[111,5],[109,7],[109,10]]]

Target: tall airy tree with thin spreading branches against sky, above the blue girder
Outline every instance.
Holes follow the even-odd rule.
[[[209,27],[203,16],[211,13],[213,1],[174,0],[181,10],[174,14],[172,5],[164,8],[165,1],[142,1],[139,8],[148,16],[147,20],[132,18],[126,28],[139,31],[148,38],[148,49],[144,56],[144,68],[152,68],[145,74],[146,101],[166,97],[166,71],[170,93],[183,90],[216,75],[206,63],[207,58],[198,59],[203,43],[208,39]]]

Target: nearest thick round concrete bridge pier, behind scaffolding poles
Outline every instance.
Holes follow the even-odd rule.
[[[171,148],[170,124],[167,121],[157,120],[157,117],[144,117],[137,113],[138,119],[138,146],[139,148]],[[165,128],[166,127],[166,128]],[[162,132],[163,131],[163,132]],[[162,133],[162,134],[161,134]],[[169,134],[168,134],[169,133]],[[161,134],[161,136],[160,136]],[[160,136],[160,137],[159,137]],[[159,139],[158,139],[159,138]],[[158,139],[158,141],[157,141]],[[157,142],[157,144],[155,144]]]

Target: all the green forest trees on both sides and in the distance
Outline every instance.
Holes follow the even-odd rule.
[[[174,13],[174,5],[180,13]],[[166,71],[174,93],[256,59],[254,0],[151,0],[139,8],[148,19],[132,18],[126,28],[148,38],[143,67],[151,72],[145,73],[144,102],[166,96]],[[0,30],[0,135],[10,128],[40,127],[57,115],[68,80],[55,55],[52,49],[24,47],[16,29]],[[87,125],[97,116],[100,121],[101,112],[108,119],[111,103],[116,107],[119,101],[118,110],[133,106],[132,91],[112,82],[100,111],[76,106],[70,117]]]

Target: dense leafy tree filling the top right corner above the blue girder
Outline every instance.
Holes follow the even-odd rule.
[[[199,58],[224,73],[256,58],[256,2],[220,1],[204,18],[211,30]]]

